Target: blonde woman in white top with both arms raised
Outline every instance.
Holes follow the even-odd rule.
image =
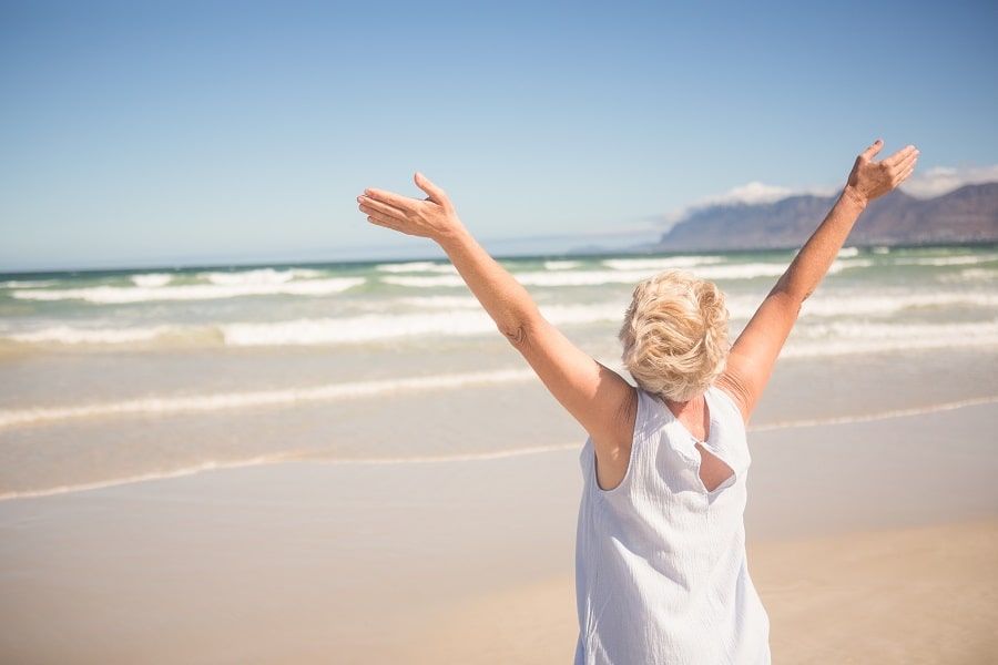
[[[426,200],[366,190],[368,221],[434,239],[544,386],[589,433],[576,546],[576,663],[768,663],[745,555],[745,426],[803,301],[866,205],[915,168],[860,154],[847,184],[733,346],[723,294],[666,272],[640,285],[620,338],[638,387],[549,324],[425,176]]]

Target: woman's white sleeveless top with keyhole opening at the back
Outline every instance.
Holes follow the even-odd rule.
[[[702,444],[734,471],[712,492],[697,440],[641,390],[620,485],[602,490],[592,441],[582,450],[576,665],[770,663],[770,622],[745,555],[745,426],[721,390],[706,402]]]

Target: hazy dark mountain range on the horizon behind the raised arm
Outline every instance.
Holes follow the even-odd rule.
[[[649,247],[716,252],[800,247],[836,197],[791,196],[775,203],[697,208]],[[846,245],[949,245],[998,242],[998,183],[966,185],[936,198],[902,191],[869,204]]]

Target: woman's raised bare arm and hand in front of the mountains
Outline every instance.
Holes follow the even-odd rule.
[[[842,195],[739,336],[717,385],[731,395],[745,422],[758,403],[773,366],[790,336],[801,306],[832,267],[867,204],[903,183],[915,168],[918,151],[909,145],[874,162],[877,141],[853,165]]]

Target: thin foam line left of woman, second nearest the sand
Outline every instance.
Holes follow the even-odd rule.
[[[28,423],[61,422],[64,420],[77,420],[82,418],[170,416],[174,413],[213,412],[307,402],[340,401],[399,392],[459,390],[472,386],[521,382],[533,378],[534,375],[529,369],[500,369],[483,372],[386,379],[380,381],[330,383],[326,386],[287,388],[283,390],[147,397],[115,402],[96,402],[67,407],[6,409],[0,410],[0,429]]]

